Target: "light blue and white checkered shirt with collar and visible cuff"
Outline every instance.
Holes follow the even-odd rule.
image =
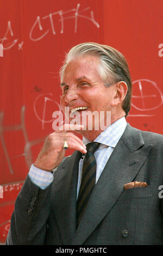
[[[111,124],[95,139],[95,142],[101,143],[101,145],[99,145],[98,149],[94,153],[97,162],[96,182],[98,181],[106,162],[108,162],[112,151],[116,147],[119,139],[121,138],[124,130],[126,129],[126,125],[126,119],[122,117],[115,121],[115,123]],[[90,141],[83,137],[83,142],[86,145]],[[81,158],[79,161],[77,197],[82,178],[83,160],[84,158]],[[51,184],[53,179],[55,179],[55,172],[54,174],[52,174],[51,172],[46,172],[45,170],[36,168],[34,164],[32,164],[29,170],[29,177],[35,185],[39,186],[43,190]]]

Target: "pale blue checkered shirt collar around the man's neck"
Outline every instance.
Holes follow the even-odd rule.
[[[115,123],[112,123],[108,128],[106,128],[95,139],[95,142],[115,148],[124,130],[126,129],[126,126],[127,122],[125,117],[118,119],[115,121]],[[83,137],[83,143],[86,145],[87,143],[90,143],[90,141]]]

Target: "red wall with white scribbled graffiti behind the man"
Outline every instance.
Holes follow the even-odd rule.
[[[133,80],[127,121],[162,133],[162,0],[0,0],[0,243],[17,193],[53,132],[60,109],[59,68],[65,52],[85,41],[126,56]],[[70,155],[72,151],[67,151]]]

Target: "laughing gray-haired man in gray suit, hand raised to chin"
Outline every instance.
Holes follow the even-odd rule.
[[[163,137],[126,123],[126,59],[106,45],[80,44],[60,77],[70,121],[76,111],[96,111],[104,124],[111,113],[110,124],[97,130],[97,118],[89,130],[86,119],[47,137],[16,199],[7,245],[161,245]],[[72,156],[64,157],[66,148]]]

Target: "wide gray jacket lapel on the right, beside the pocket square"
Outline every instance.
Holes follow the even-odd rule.
[[[150,150],[151,145],[144,145],[141,131],[127,125],[92,192],[73,245],[82,245],[108,214],[123,192],[124,184],[133,181]]]

